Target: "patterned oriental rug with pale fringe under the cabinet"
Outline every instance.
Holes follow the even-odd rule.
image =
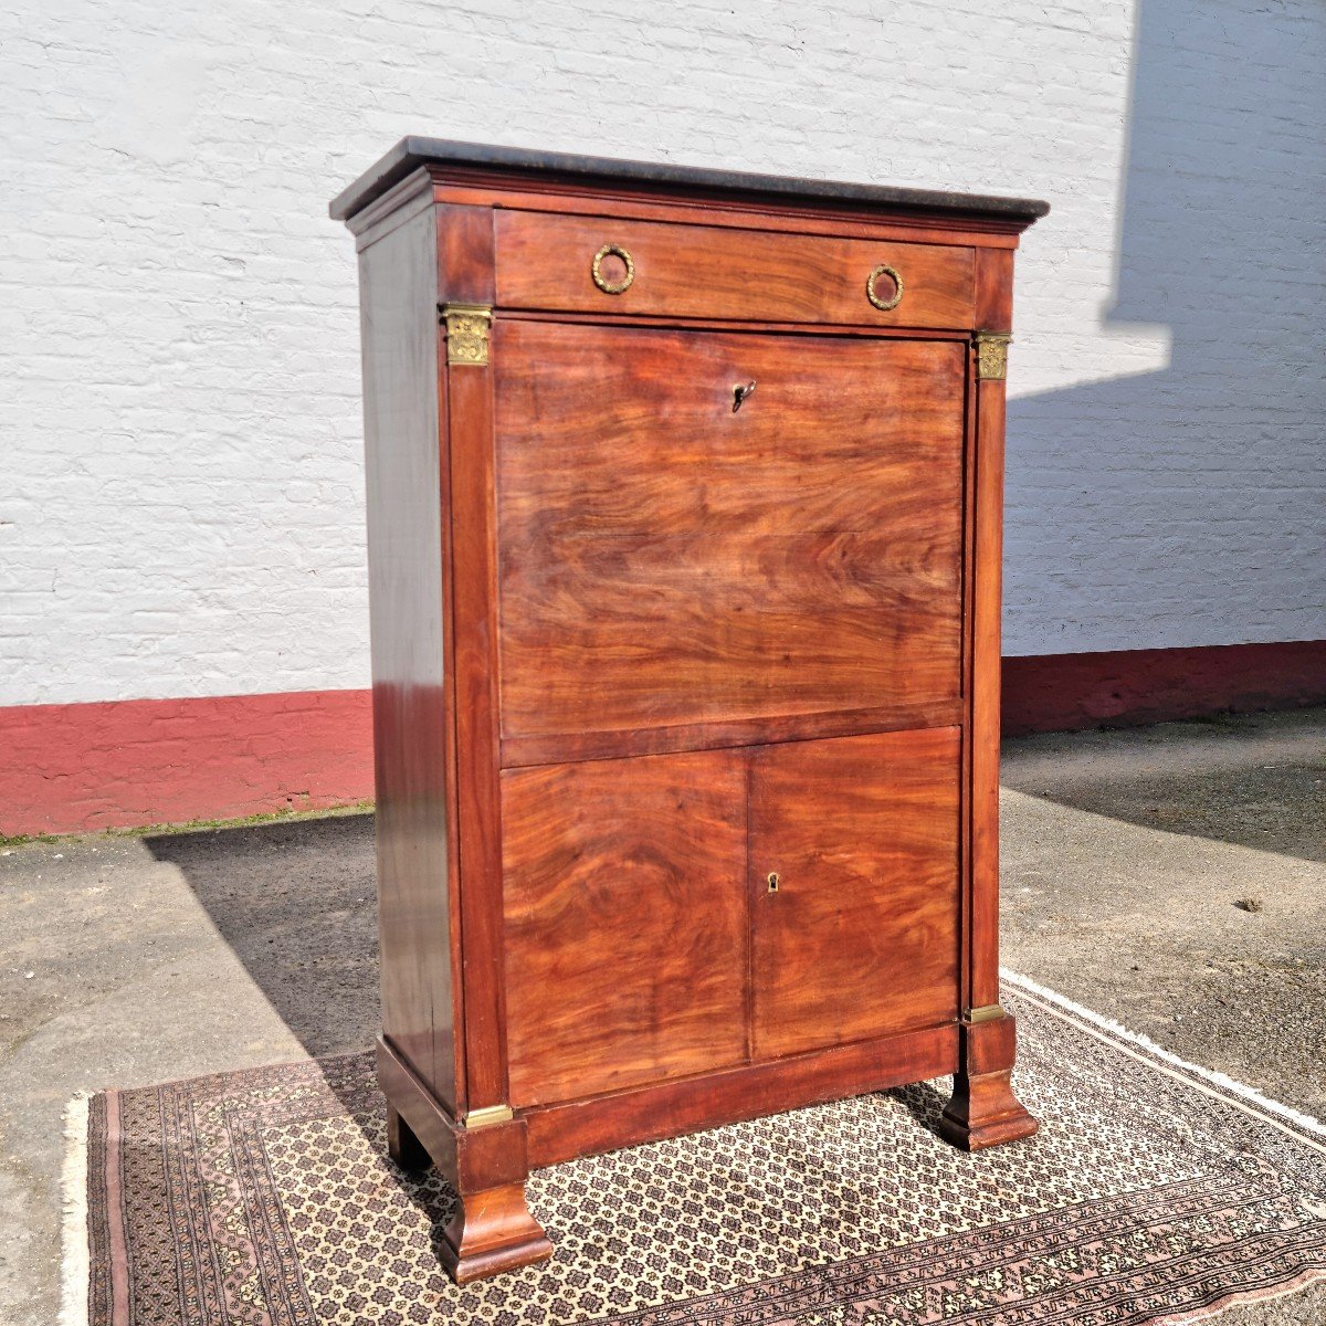
[[[1326,1277],[1321,1124],[1006,988],[1038,1136],[953,1150],[935,1082],[577,1160],[529,1181],[552,1262],[465,1289],[367,1054],[76,1102],[65,1319],[1118,1326]]]

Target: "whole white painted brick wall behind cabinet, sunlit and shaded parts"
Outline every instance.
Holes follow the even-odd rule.
[[[1326,635],[1319,0],[23,0],[0,703],[367,683],[350,236],[406,133],[1050,199],[1006,647]]]

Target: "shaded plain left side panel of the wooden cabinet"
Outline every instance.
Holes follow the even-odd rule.
[[[455,1103],[436,231],[359,256],[383,1033]]]

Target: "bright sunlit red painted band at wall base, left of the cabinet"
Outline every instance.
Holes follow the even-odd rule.
[[[0,834],[82,833],[373,796],[369,691],[0,708]]]

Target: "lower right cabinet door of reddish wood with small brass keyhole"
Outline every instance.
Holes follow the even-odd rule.
[[[959,728],[754,752],[756,1058],[957,1016],[959,768]]]

